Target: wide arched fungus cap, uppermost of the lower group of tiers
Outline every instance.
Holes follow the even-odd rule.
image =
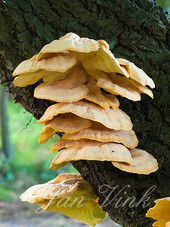
[[[43,124],[51,120],[54,116],[62,113],[73,113],[82,118],[97,121],[107,128],[115,130],[131,130],[132,122],[129,116],[120,109],[104,110],[102,107],[86,102],[78,101],[74,103],[57,103],[47,108],[44,115],[38,121]]]

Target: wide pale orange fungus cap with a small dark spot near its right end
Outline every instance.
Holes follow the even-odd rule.
[[[52,161],[50,169],[57,170],[71,161],[123,161],[133,163],[128,149],[116,143],[102,143],[92,140],[76,141],[70,148],[61,150]]]

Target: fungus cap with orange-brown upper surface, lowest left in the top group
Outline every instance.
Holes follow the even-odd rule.
[[[86,73],[81,67],[73,69],[64,80],[42,83],[34,90],[34,97],[56,102],[75,102],[87,96]]]

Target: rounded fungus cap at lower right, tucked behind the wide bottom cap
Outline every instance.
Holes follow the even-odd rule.
[[[112,164],[125,172],[137,174],[150,174],[157,171],[157,160],[148,152],[141,149],[130,149],[130,153],[134,164],[127,164],[124,162],[112,162]]]

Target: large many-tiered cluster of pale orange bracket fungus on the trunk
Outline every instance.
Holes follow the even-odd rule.
[[[51,169],[77,160],[110,161],[136,174],[158,169],[151,154],[136,148],[133,124],[117,98],[140,101],[141,94],[153,98],[147,86],[154,88],[154,82],[133,63],[115,58],[104,40],[68,33],[23,61],[13,75],[15,86],[38,82],[34,97],[56,102],[38,121],[44,124],[41,144],[57,131],[64,134],[51,147],[51,152],[59,151]]]

